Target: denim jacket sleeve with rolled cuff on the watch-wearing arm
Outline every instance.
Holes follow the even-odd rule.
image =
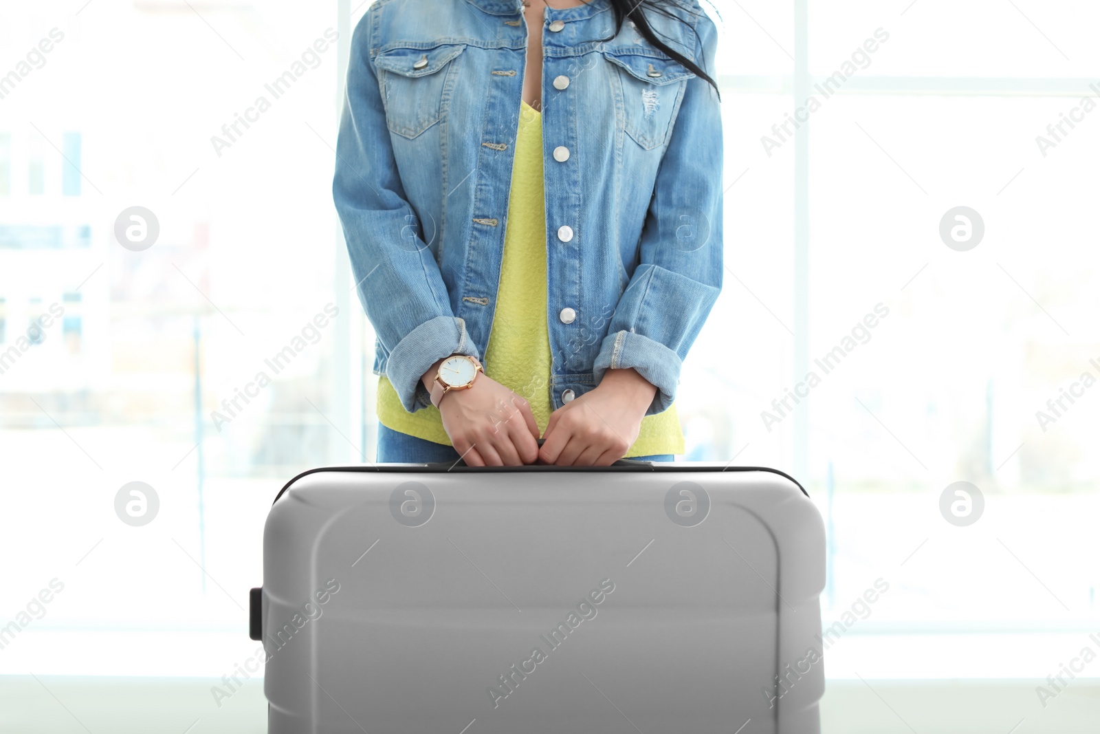
[[[367,12],[352,35],[346,96],[337,139],[333,200],[360,302],[387,353],[386,376],[409,413],[430,405],[421,375],[452,353],[480,358],[451,309],[431,248],[398,176],[372,63]]]

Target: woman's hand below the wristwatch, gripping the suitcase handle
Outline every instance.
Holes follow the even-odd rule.
[[[527,401],[484,373],[439,403],[443,430],[470,467],[517,467],[539,456],[539,426]]]

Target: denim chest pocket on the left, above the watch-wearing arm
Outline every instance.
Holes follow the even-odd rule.
[[[391,132],[416,138],[439,122],[444,94],[454,85],[451,62],[464,48],[388,48],[374,57]]]

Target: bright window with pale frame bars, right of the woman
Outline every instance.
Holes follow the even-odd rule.
[[[715,4],[791,57],[723,76],[729,267],[682,418],[804,479],[826,627],[890,584],[826,675],[1044,678],[1097,618],[1097,9],[795,3],[798,48],[765,3]]]

